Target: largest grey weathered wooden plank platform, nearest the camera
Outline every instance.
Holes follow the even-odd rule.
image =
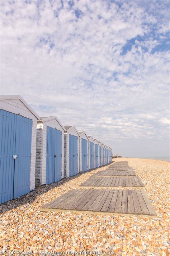
[[[157,216],[144,190],[73,189],[40,211]]]

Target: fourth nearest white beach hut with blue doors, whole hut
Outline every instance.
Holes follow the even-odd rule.
[[[79,164],[80,172],[89,170],[89,138],[85,131],[79,131]]]

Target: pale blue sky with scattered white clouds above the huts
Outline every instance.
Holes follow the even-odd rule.
[[[169,156],[169,1],[0,4],[1,94],[113,153]]]

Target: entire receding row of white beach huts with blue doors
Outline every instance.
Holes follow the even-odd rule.
[[[56,116],[39,117],[20,95],[0,96],[0,143],[0,203],[112,162],[110,147]]]

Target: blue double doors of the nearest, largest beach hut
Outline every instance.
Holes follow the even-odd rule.
[[[32,120],[0,109],[0,203],[30,192],[31,138]]]

